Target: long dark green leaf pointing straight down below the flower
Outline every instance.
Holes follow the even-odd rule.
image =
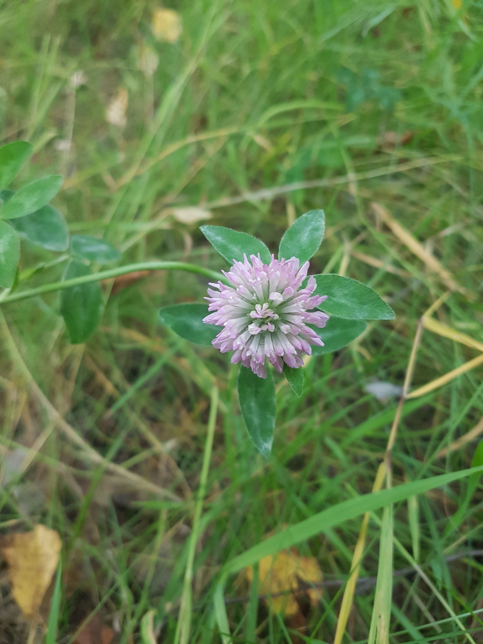
[[[251,369],[240,367],[238,402],[255,447],[266,459],[272,450],[275,428],[275,385],[272,372],[259,378]]]

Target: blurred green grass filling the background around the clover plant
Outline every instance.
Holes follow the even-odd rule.
[[[243,427],[227,357],[157,323],[161,305],[201,301],[204,276],[158,271],[128,285],[109,298],[102,329],[85,346],[68,344],[58,293],[3,305],[53,408],[97,453],[141,477],[128,485],[105,464],[82,459],[1,337],[0,526],[5,532],[42,522],[61,534],[62,643],[72,643],[94,611],[119,630],[118,642],[142,641],[140,622],[152,609],[158,642],[171,643],[183,593],[180,629],[191,621],[188,641],[220,641],[213,599],[223,565],[269,533],[370,492],[397,401],[377,401],[363,386],[371,379],[403,384],[417,321],[446,292],[375,220],[371,202],[384,205],[466,289],[453,292],[435,318],[483,341],[482,3],[468,1],[459,13],[450,0],[171,6],[184,25],[176,44],[153,40],[155,3],[147,0],[0,3],[2,141],[21,138],[35,149],[19,184],[66,175],[55,205],[71,232],[106,236],[124,252],[123,265],[225,268],[198,224],[176,220],[176,207],[209,209],[210,223],[255,234],[271,250],[294,216],[323,208],[327,232],[311,271],[342,270],[364,281],[397,317],[370,323],[361,341],[338,354],[310,360],[301,398],[277,378],[274,449],[264,461]],[[158,54],[153,77],[138,69],[141,45]],[[70,78],[79,70],[86,82],[74,93]],[[104,118],[118,88],[129,95],[125,128]],[[70,137],[70,152],[59,150],[59,140]],[[307,185],[294,189],[294,182]],[[383,265],[368,265],[361,254]],[[23,287],[58,281],[65,261],[24,246]],[[39,270],[30,276],[33,266]],[[475,355],[425,331],[413,385]],[[478,439],[444,458],[437,453],[480,421],[482,374],[479,367],[405,404],[393,486],[470,466]],[[214,385],[220,404],[193,552]],[[35,443],[39,437],[44,442]],[[18,450],[33,445],[32,462],[15,469]],[[170,496],[154,496],[141,479]],[[417,506],[393,506],[393,568],[413,565],[414,556],[426,581],[414,573],[395,578],[391,643],[482,641],[483,613],[473,614],[483,609],[482,559],[450,558],[483,547],[482,500],[481,486],[461,480],[419,495]],[[379,560],[382,516],[377,510],[370,520],[361,564],[361,577],[373,580],[389,563]],[[388,524],[383,552],[390,551]],[[361,517],[346,520],[299,542],[299,551],[317,558],[326,580],[346,580],[360,526]],[[375,592],[375,582],[359,585],[345,643],[368,641]],[[333,641],[340,587],[327,587],[299,636],[235,575],[224,593],[240,599],[227,601],[237,643]],[[0,642],[26,641],[27,631],[0,607]],[[37,641],[51,641],[53,632],[50,624],[42,639],[39,630]]]

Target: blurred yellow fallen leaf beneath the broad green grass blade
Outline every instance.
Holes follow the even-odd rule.
[[[249,583],[253,580],[253,568],[245,569],[245,578]],[[296,591],[301,582],[320,583],[322,571],[315,557],[301,556],[295,548],[281,550],[275,555],[263,557],[258,562],[258,592],[263,595],[274,595],[267,598],[271,611],[283,612],[286,617],[292,617],[299,612],[299,605],[293,594],[280,594],[285,591]],[[322,596],[321,588],[307,590],[310,603],[315,604]]]

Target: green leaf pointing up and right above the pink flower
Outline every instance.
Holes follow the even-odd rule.
[[[311,210],[295,220],[280,240],[278,258],[298,257],[303,264],[317,252],[324,237],[323,210]]]

